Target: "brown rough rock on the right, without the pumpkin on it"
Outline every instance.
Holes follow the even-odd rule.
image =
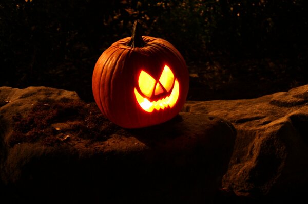
[[[225,118],[235,126],[223,188],[255,198],[306,195],[308,85],[256,99],[190,101],[183,109]]]

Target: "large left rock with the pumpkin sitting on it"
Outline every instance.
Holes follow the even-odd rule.
[[[1,87],[0,194],[13,203],[204,203],[235,137],[232,124],[203,113],[123,129],[75,92]]]

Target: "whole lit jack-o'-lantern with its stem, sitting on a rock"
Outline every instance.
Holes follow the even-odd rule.
[[[141,36],[113,43],[95,64],[92,90],[102,113],[125,128],[163,123],[175,117],[188,93],[188,70],[166,40]]]

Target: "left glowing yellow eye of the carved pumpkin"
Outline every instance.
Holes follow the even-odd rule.
[[[151,77],[148,73],[141,71],[138,79],[138,84],[141,92],[147,96],[151,97],[153,93],[153,89],[155,86],[156,80]]]

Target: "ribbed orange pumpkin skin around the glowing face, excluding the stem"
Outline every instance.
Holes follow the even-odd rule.
[[[141,128],[174,118],[188,93],[188,70],[179,51],[160,38],[142,36],[142,39],[144,47],[127,46],[131,37],[113,43],[100,56],[93,71],[95,102],[106,118],[124,128]],[[143,70],[158,80],[165,65],[179,81],[179,97],[173,107],[147,112],[134,94],[139,74]]]

